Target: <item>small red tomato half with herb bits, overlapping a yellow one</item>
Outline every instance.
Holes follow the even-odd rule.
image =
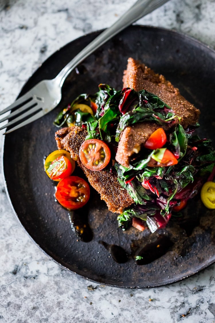
[[[62,180],[72,174],[71,162],[65,156],[57,157],[47,169],[50,178],[54,181]]]

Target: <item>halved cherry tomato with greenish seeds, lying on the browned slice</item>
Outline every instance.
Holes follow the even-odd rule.
[[[104,141],[88,139],[82,143],[79,157],[86,168],[91,171],[101,171],[109,163],[111,151]]]

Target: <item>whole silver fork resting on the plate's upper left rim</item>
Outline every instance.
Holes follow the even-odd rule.
[[[0,115],[10,110],[12,112],[0,120],[0,122],[8,120],[8,123],[2,126],[0,130],[11,127],[17,123],[13,128],[4,133],[7,134],[37,120],[53,110],[61,100],[61,88],[66,77],[79,63],[124,28],[149,14],[167,1],[168,0],[138,0],[135,2],[134,5],[111,27],[104,30],[79,52],[79,54],[76,55],[54,79],[39,82],[9,107],[2,110]]]

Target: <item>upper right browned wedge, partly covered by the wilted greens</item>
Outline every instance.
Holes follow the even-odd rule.
[[[136,91],[146,89],[148,92],[157,95],[175,111],[176,115],[181,117],[180,123],[185,129],[189,125],[195,124],[199,119],[200,110],[182,97],[179,90],[174,88],[171,82],[133,58],[128,59],[127,69],[123,76],[123,87]],[[176,120],[177,122],[178,120]],[[132,154],[140,151],[141,146],[151,133],[160,127],[156,123],[142,122],[125,128],[120,137],[116,161],[125,167],[129,167]],[[167,124],[163,129],[168,130],[170,127]]]

